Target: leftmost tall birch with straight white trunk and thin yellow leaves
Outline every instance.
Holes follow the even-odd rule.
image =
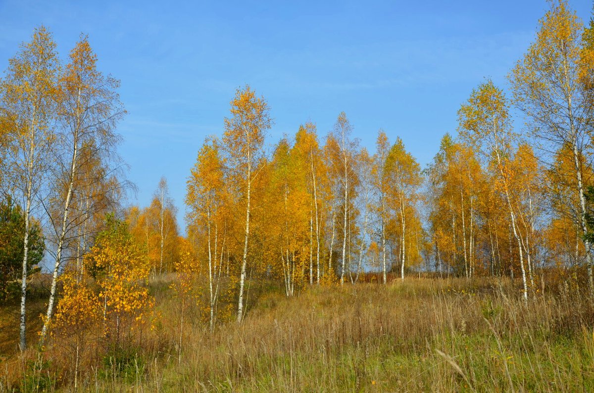
[[[22,198],[25,221],[20,306],[20,348],[24,350],[31,220],[39,207],[37,197],[48,180],[48,158],[55,140],[59,61],[52,34],[43,26],[36,28],[31,42],[23,43],[20,52],[9,60],[5,74],[0,84],[0,110],[10,140],[9,188]]]

